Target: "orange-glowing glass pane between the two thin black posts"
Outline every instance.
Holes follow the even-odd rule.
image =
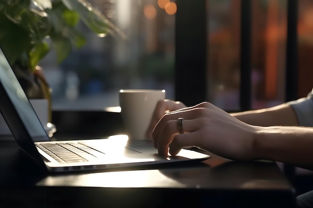
[[[252,108],[285,100],[286,0],[252,1]]]

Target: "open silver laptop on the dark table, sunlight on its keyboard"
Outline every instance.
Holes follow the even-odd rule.
[[[160,157],[151,141],[128,142],[125,135],[107,139],[50,141],[12,68],[0,49],[0,112],[19,147],[48,172],[73,172],[137,167],[210,156],[182,149]]]

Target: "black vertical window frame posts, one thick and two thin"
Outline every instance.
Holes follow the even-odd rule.
[[[175,99],[187,106],[207,99],[207,4],[208,0],[176,0]],[[298,0],[287,1],[285,101],[297,98]],[[251,1],[241,0],[240,93],[238,111],[251,109]],[[224,109],[227,110],[227,109]]]

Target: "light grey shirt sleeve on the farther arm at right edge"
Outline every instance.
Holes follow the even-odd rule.
[[[287,102],[287,104],[293,108],[299,126],[313,127],[313,89],[307,97]]]

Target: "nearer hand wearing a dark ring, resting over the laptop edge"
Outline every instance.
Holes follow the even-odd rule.
[[[179,117],[184,118],[184,134],[178,133]],[[152,138],[160,155],[168,151],[176,155],[183,147],[195,146],[225,158],[250,160],[257,128],[204,102],[166,113],[155,126]]]

